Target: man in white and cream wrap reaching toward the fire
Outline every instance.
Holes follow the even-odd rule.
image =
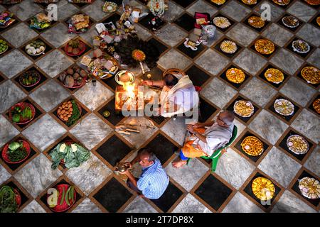
[[[163,87],[160,94],[159,114],[164,117],[198,110],[199,96],[188,75],[166,74],[163,80],[145,80],[144,85]]]

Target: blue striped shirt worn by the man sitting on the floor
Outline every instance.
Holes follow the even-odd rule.
[[[142,168],[142,175],[137,182],[138,189],[148,199],[159,199],[168,184],[169,177],[157,158],[153,165]]]

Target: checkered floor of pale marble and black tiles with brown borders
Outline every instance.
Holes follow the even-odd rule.
[[[319,212],[319,199],[305,199],[297,188],[297,179],[320,175],[320,120],[312,109],[312,101],[319,97],[319,85],[312,86],[301,78],[302,67],[320,67],[320,30],[314,22],[319,7],[305,1],[292,0],[288,6],[278,6],[270,1],[259,1],[252,7],[238,0],[226,0],[217,6],[210,0],[171,0],[165,23],[159,33],[149,31],[146,18],[136,25],[139,36],[156,44],[161,52],[158,67],[151,73],[160,75],[170,67],[181,68],[203,89],[201,119],[215,118],[221,109],[232,109],[238,99],[252,101],[255,114],[250,118],[235,120],[238,138],[218,162],[215,173],[210,163],[194,159],[181,170],[174,170],[171,162],[174,151],[183,144],[186,126],[183,119],[151,118],[156,128],[144,117],[139,121],[139,135],[120,135],[115,126],[134,118],[115,116],[104,118],[102,112],[114,108],[115,84],[111,80],[97,80],[94,87],[88,83],[81,89],[70,90],[60,84],[57,76],[80,59],[65,55],[63,45],[75,35],[67,33],[65,20],[78,12],[90,15],[92,28],[80,38],[92,53],[92,35],[97,34],[95,23],[115,21],[119,12],[108,14],[101,10],[103,1],[76,6],[66,0],[58,3],[59,21],[41,33],[28,28],[29,18],[43,11],[43,6],[25,0],[8,6],[16,15],[17,23],[0,29],[0,38],[10,47],[0,56],[0,146],[16,138],[31,143],[31,155],[19,165],[8,165],[0,159],[0,184],[15,185],[21,191],[22,204],[19,212],[50,212],[46,206],[46,190],[59,182],[75,184],[77,201],[68,212]],[[119,1],[117,1],[119,2]],[[121,1],[120,1],[121,2]],[[131,1],[139,6],[142,1]],[[261,13],[264,3],[271,6],[271,21],[263,29],[255,30],[247,24],[247,18]],[[0,6],[3,11],[7,6]],[[194,12],[208,12],[210,16],[223,15],[232,26],[217,29],[215,38],[201,45],[196,52],[183,47],[183,40],[193,28]],[[300,26],[284,28],[281,18],[285,15],[299,18]],[[148,17],[148,16],[146,16]],[[269,57],[260,55],[252,48],[257,38],[265,37],[276,45]],[[219,43],[228,38],[238,45],[235,55],[224,55]],[[308,55],[297,55],[290,43],[302,38],[311,45]],[[29,57],[24,46],[30,40],[43,40],[48,50],[40,57]],[[247,75],[242,84],[230,84],[225,71],[239,67]],[[265,70],[276,67],[285,74],[278,86],[263,78]],[[33,89],[24,89],[18,76],[28,69],[41,73],[41,82]],[[138,73],[139,74],[139,73]],[[294,115],[282,118],[272,109],[275,99],[284,97],[295,106]],[[83,113],[75,126],[65,126],[55,115],[58,105],[70,98],[76,99]],[[36,117],[26,126],[16,126],[9,121],[8,109],[19,101],[29,101],[36,106]],[[297,133],[308,140],[310,150],[297,156],[287,150],[285,140]],[[257,157],[242,152],[240,143],[247,135],[255,135],[263,141],[265,151]],[[60,141],[73,139],[92,151],[90,160],[70,170],[59,166],[51,170],[50,151]],[[150,201],[137,196],[127,188],[122,179],[114,175],[114,165],[122,160],[132,160],[135,150],[149,146],[161,160],[170,177],[170,184],[161,199]],[[2,149],[1,149],[2,150]],[[265,176],[276,187],[270,205],[260,204],[250,192],[252,179]]]

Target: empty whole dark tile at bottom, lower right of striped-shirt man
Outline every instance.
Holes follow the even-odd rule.
[[[217,211],[233,191],[213,175],[209,175],[195,194]]]

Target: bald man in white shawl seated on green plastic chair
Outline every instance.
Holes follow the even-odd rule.
[[[233,112],[223,111],[216,121],[188,125],[187,130],[192,135],[186,139],[178,159],[172,165],[178,168],[186,165],[189,157],[213,155],[215,150],[229,143],[233,135],[234,119]]]

